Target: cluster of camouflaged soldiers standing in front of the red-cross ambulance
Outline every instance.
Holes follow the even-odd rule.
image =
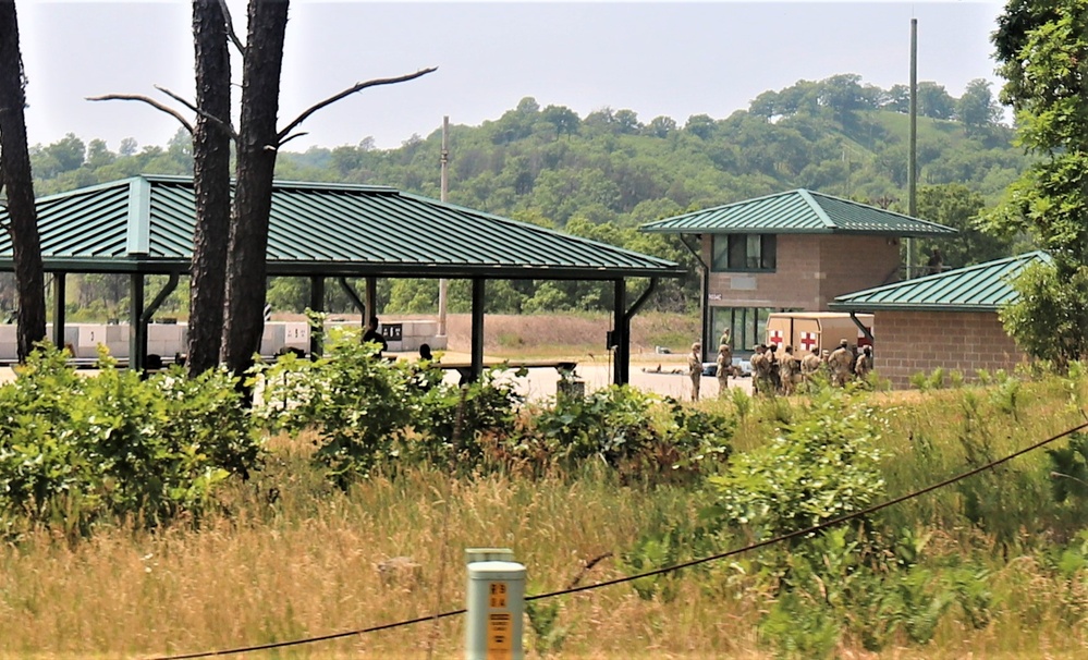
[[[782,354],[778,352],[778,344],[759,344],[751,356],[753,392],[790,395],[799,383],[811,380],[821,371],[840,388],[855,378],[865,380],[872,371],[872,347],[864,346],[860,353],[856,353],[844,339],[834,351],[824,350],[820,355],[809,353],[798,359],[789,344],[783,347]]]

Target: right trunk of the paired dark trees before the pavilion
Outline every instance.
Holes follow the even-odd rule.
[[[276,114],[288,2],[250,0],[248,13],[222,350],[223,362],[240,375],[259,349],[265,325],[268,216],[279,146]]]

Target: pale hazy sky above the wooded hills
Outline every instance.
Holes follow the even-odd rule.
[[[244,2],[231,0],[245,38]],[[291,4],[281,125],[356,82],[439,70],[349,97],[311,117],[289,149],[381,148],[451,123],[494,120],[527,96],[579,115],[631,109],[716,119],[767,89],[839,73],[888,88],[909,81],[910,19],[918,80],[958,97],[994,82],[989,41],[1002,2],[311,2]],[[89,102],[107,93],[193,97],[187,2],[17,1],[30,144],[74,133],[162,145],[180,124],[148,106]],[[235,58],[235,73],[241,63]],[[240,78],[240,75],[235,75]],[[235,93],[235,100],[240,93]]]

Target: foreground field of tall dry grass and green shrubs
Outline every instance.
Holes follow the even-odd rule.
[[[48,401],[49,379],[68,378],[59,364],[3,386],[0,413],[32,395]],[[252,469],[230,467],[245,453],[243,436],[231,454],[211,437],[187,440],[199,436],[200,415],[212,427],[224,415],[215,406],[230,396],[212,396],[221,383],[188,391],[205,407],[186,404],[194,421],[182,430],[170,426],[180,408],[169,395],[147,398],[168,407],[129,442],[168,429],[148,455],[176,450],[191,470],[188,486],[155,496],[169,501],[154,510],[147,494],[125,508],[118,492],[143,491],[121,477],[89,481],[78,497],[74,478],[48,497],[24,489],[30,494],[12,503],[33,469],[12,455],[63,442],[71,429],[99,432],[108,411],[58,404],[39,411],[53,421],[34,432],[9,415],[0,657],[170,656],[428,618],[237,657],[461,658],[463,618],[429,618],[464,607],[466,548],[512,549],[529,594],[636,576],[864,510],[1086,421],[1078,365],[983,376],[983,384],[930,381],[907,392],[815,383],[791,398],[734,392],[695,405],[623,388],[523,404],[493,383],[431,384],[404,394],[418,403],[399,417],[360,401],[402,392],[402,377],[403,392],[414,392],[418,371],[351,352],[288,358],[261,377],[290,382],[297,407],[249,413],[260,418]],[[61,384],[100,411],[117,393],[143,401],[146,388],[179,387],[112,378]],[[32,392],[11,391],[30,381]],[[488,416],[496,411],[510,415]],[[381,415],[395,423],[392,439],[363,419]],[[441,415],[456,424],[433,423]],[[99,476],[125,461],[136,469],[118,452]],[[195,464],[194,452],[225,455],[227,467]],[[47,476],[35,484],[53,484]],[[193,494],[194,484],[206,490]],[[1088,437],[828,530],[530,604],[529,658],[1088,657]]]

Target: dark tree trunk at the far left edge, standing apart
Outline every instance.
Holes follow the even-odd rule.
[[[19,49],[19,20],[13,0],[0,0],[0,175],[8,192],[8,232],[11,234],[19,295],[19,360],[46,338],[46,286],[41,243],[34,206],[34,179],[26,148],[23,108],[23,58]]]

